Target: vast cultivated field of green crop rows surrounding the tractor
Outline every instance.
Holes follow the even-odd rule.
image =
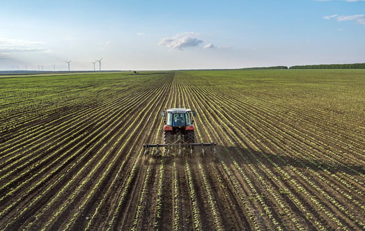
[[[365,70],[0,77],[0,230],[365,230]],[[205,157],[146,158],[163,109]]]

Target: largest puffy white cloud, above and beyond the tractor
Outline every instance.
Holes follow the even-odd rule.
[[[187,47],[195,47],[201,42],[202,40],[199,40],[196,38],[199,34],[189,32],[189,33],[178,33],[170,38],[163,38],[159,45],[164,45],[166,47],[169,47],[170,49],[180,49],[183,50]]]

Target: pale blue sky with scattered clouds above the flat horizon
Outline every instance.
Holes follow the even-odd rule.
[[[365,63],[365,0],[1,1],[0,70],[68,70],[66,61],[70,70]]]

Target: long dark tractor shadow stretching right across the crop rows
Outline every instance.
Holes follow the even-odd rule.
[[[326,155],[316,157],[305,157],[302,154],[290,155],[286,153],[274,154],[270,152],[258,152],[256,150],[249,150],[240,146],[217,147],[221,156],[226,157],[226,161],[231,161],[231,158],[235,159],[240,165],[244,164],[265,164],[267,168],[273,168],[274,166],[288,167],[288,168],[306,168],[316,171],[327,170],[329,173],[347,173],[349,175],[363,175],[365,174],[365,166],[356,164],[356,160],[345,159],[339,163],[338,159],[335,161],[328,160]],[[227,153],[228,152],[228,153]]]

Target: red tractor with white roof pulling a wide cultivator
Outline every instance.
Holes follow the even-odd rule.
[[[190,109],[168,109],[162,112],[164,118],[164,143],[163,144],[144,144],[145,155],[155,157],[162,156],[181,156],[183,154],[194,153],[199,147],[201,154],[206,154],[206,147],[210,147],[215,152],[215,143],[195,143],[194,116],[196,112]],[[150,148],[155,148],[150,152]],[[163,148],[164,152],[160,150]]]

